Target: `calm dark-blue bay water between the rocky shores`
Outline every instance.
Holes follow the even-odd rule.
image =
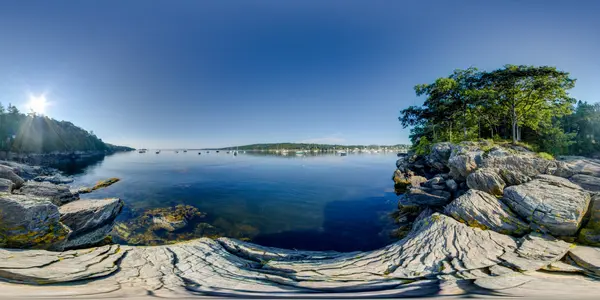
[[[396,156],[275,156],[211,151],[120,153],[75,174],[74,186],[121,182],[83,198],[120,197],[120,221],[188,204],[222,235],[304,250],[369,250],[388,242]]]

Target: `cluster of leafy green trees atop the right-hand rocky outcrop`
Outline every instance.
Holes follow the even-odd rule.
[[[398,118],[412,127],[413,146],[493,139],[554,155],[600,153],[600,103],[569,95],[575,79],[556,67],[505,65],[493,71],[455,70],[415,86],[425,96]]]

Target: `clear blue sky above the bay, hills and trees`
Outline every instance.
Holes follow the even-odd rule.
[[[0,103],[138,148],[408,143],[413,87],[551,65],[600,101],[600,1],[27,1],[0,7]]]

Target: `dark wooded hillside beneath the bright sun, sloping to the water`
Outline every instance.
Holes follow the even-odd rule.
[[[71,122],[34,113],[23,114],[0,103],[0,151],[49,153],[71,151],[128,151],[132,148],[104,143],[93,132]]]

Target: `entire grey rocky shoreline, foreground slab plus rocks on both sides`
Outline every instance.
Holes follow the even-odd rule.
[[[546,160],[523,148],[482,142],[436,144],[430,154],[409,154],[396,165],[393,178],[403,194],[396,218],[403,238],[379,250],[296,251],[229,238],[151,247],[0,249],[0,278],[5,281],[0,283],[0,294],[9,298],[597,297],[599,161]],[[20,177],[18,171],[11,169]],[[47,219],[63,220],[76,236],[78,230],[101,230],[99,226],[110,224],[119,210],[118,201],[113,201],[102,205],[104,213],[98,214],[95,206],[81,203],[85,200],[76,199],[73,191],[55,188],[60,185],[49,188],[48,182],[20,181],[6,168],[0,172],[0,178],[10,177],[8,188],[0,193],[1,199],[8,200],[2,201],[43,202],[45,211],[54,205],[58,214]],[[28,194],[22,192],[31,185],[32,190],[44,192],[33,194],[27,188]],[[21,222],[31,215],[25,216],[20,216]],[[41,232],[39,225],[36,230]],[[73,238],[67,235],[41,248],[71,248],[69,241]]]

